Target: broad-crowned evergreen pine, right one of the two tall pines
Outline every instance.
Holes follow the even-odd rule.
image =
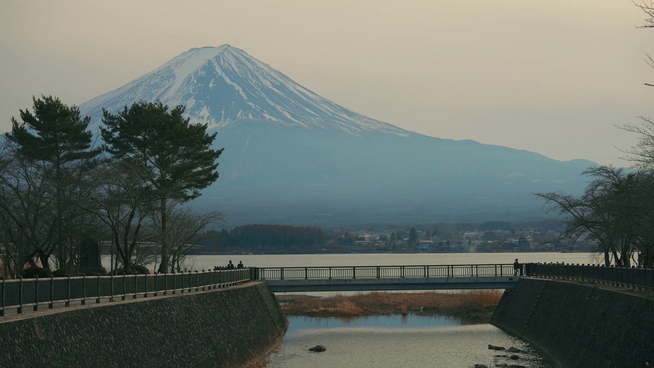
[[[161,101],[139,101],[117,114],[103,109],[102,138],[114,158],[137,160],[148,170],[143,180],[159,198],[163,270],[169,266],[168,200],[184,202],[197,198],[201,189],[218,179],[216,160],[223,149],[211,149],[216,134],[207,134],[207,124],[190,124],[182,117],[184,106],[168,111]]]

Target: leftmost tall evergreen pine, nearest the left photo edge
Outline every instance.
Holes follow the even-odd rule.
[[[10,144],[16,145],[16,153],[41,168],[47,166],[48,174],[39,180],[52,187],[50,218],[43,218],[44,229],[51,234],[50,241],[37,249],[43,267],[49,267],[50,255],[56,250],[60,269],[71,266],[75,240],[73,228],[83,220],[83,212],[73,203],[74,194],[80,190],[80,178],[88,163],[101,149],[92,149],[92,132],[87,130],[90,117],[80,117],[79,109],[67,106],[58,98],[41,96],[32,98],[33,113],[20,110],[22,122],[12,117],[12,131],[5,134]],[[43,184],[43,182],[41,183]],[[31,186],[30,186],[31,187]]]

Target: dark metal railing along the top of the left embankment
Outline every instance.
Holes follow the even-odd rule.
[[[18,276],[16,280],[5,280],[0,277],[0,317],[5,316],[5,310],[16,308],[22,313],[24,307],[31,306],[39,310],[40,305],[48,305],[52,309],[54,303],[87,301],[100,303],[100,299],[114,301],[116,298],[125,300],[128,297],[136,299],[137,295],[158,296],[160,293],[190,293],[218,287],[228,287],[243,284],[258,279],[256,267],[235,268],[233,270],[202,270],[201,272],[184,272],[174,274],[154,275],[118,275],[118,276],[67,276],[64,278],[29,278]]]

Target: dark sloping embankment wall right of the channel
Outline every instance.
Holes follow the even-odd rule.
[[[560,367],[654,366],[654,297],[627,289],[521,278],[490,323]],[[647,363],[646,363],[647,362]]]

